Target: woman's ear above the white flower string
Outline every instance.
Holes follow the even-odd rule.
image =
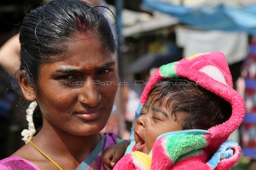
[[[33,88],[31,84],[29,84],[25,70],[20,70],[18,74],[18,80],[19,80],[20,89],[22,90],[22,94],[24,98],[30,102],[35,101],[36,99],[35,88]]]

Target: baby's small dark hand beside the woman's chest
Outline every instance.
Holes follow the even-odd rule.
[[[122,143],[117,143],[116,145],[106,148],[106,150],[104,150],[104,152],[102,153],[103,166],[107,170],[113,169],[116,162],[118,162],[118,160],[120,160],[124,156],[125,150],[129,144],[129,141],[124,141]]]

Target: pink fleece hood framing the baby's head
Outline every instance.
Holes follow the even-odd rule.
[[[196,54],[186,59],[172,62],[159,67],[143,90],[140,97],[140,104],[136,110],[134,122],[141,113],[143,105],[147,102],[148,92],[160,81],[170,77],[184,77],[195,81],[198,85],[222,97],[231,104],[232,115],[223,124],[216,125],[208,129],[209,134],[205,134],[207,150],[210,153],[216,152],[217,148],[227,140],[228,136],[234,132],[243,121],[245,115],[245,104],[236,90],[233,89],[232,76],[228,69],[225,55],[221,52],[211,52]],[[134,139],[133,128],[131,139]]]

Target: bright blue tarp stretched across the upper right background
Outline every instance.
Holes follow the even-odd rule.
[[[188,6],[143,0],[143,6],[172,15],[183,24],[204,30],[239,31],[256,35],[256,5],[235,8],[224,4],[218,6]]]

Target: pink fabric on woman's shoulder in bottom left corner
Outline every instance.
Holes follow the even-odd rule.
[[[21,157],[7,157],[5,159],[0,160],[0,169],[1,170],[11,170],[11,169],[28,169],[28,170],[40,170],[40,168],[36,167],[34,164],[29,162],[26,159],[22,159]]]

